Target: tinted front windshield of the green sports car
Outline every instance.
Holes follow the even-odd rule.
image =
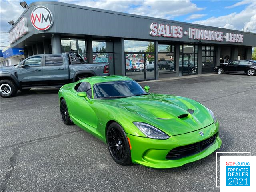
[[[148,93],[135,81],[110,81],[93,85],[95,99],[118,99]]]

